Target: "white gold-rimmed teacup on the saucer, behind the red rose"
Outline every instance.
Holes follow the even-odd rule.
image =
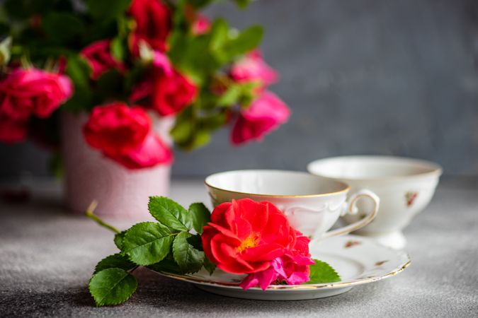
[[[288,217],[290,224],[313,239],[343,235],[370,223],[377,214],[379,199],[368,190],[346,197],[349,187],[343,182],[283,170],[237,170],[220,172],[205,179],[212,204],[249,198],[270,201]],[[371,208],[365,217],[350,225],[329,230],[339,216],[357,213],[359,199],[367,198]]]

